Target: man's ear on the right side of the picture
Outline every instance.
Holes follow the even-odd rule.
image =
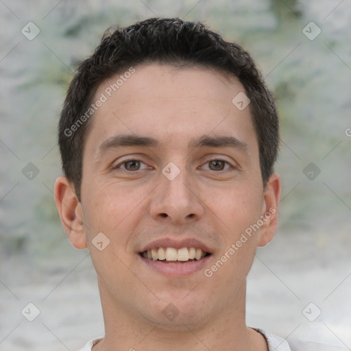
[[[278,226],[278,208],[280,199],[280,176],[273,173],[265,186],[261,220],[263,222],[258,234],[258,246],[265,246],[274,238]]]

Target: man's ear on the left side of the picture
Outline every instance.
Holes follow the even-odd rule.
[[[66,177],[58,178],[55,182],[54,194],[62,227],[69,241],[76,249],[85,249],[87,245],[82,205],[75,195],[73,184]]]

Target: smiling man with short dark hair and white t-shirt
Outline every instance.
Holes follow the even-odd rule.
[[[59,124],[56,204],[104,312],[82,350],[290,350],[245,324],[256,247],[276,232],[278,129],[252,58],[201,23],[104,36]]]

